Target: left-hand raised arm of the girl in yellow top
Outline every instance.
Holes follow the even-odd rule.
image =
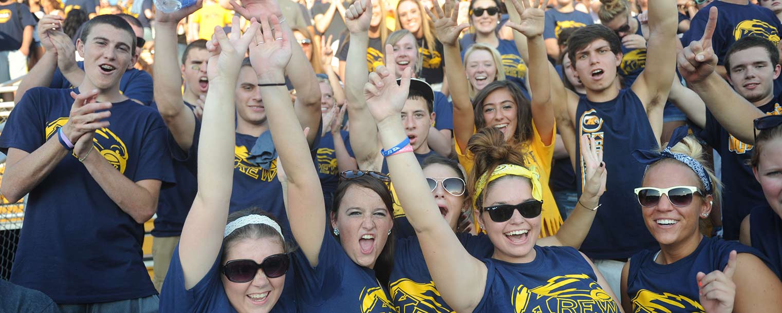
[[[445,75],[450,85],[450,97],[454,101],[454,138],[459,149],[466,151],[467,141],[475,133],[475,112],[472,111],[469,83],[459,51],[459,34],[469,24],[457,25],[459,5],[459,2],[448,0],[443,9],[435,5],[434,12],[426,8],[426,13],[434,21],[437,39],[443,43],[443,58],[448,69]]]

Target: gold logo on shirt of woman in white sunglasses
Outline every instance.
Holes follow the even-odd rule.
[[[701,312],[705,310],[698,301],[673,293],[655,293],[649,290],[638,290],[630,301],[633,313],[671,313],[673,311]]]

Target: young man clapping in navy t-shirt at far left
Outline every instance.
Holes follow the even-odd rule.
[[[8,155],[0,192],[9,201],[29,194],[10,280],[65,313],[154,311],[142,224],[155,214],[161,184],[173,183],[170,159],[160,158],[165,125],[120,93],[137,58],[127,22],[95,17],[77,51],[79,87],[30,89],[0,135]]]

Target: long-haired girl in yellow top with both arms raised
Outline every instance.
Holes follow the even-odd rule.
[[[542,237],[557,233],[562,225],[551,188],[548,185],[551,173],[551,159],[554,155],[554,111],[551,105],[543,105],[545,98],[534,97],[530,103],[515,84],[500,80],[488,84],[470,100],[468,97],[468,81],[460,74],[461,62],[457,57],[459,46],[457,36],[467,25],[456,25],[458,8],[447,10],[435,8],[429,12],[434,20],[437,37],[445,44],[446,62],[449,69],[451,96],[454,98],[454,139],[459,162],[468,172],[472,171],[475,162],[480,162],[472,153],[466,150],[468,140],[475,130],[494,127],[500,130],[512,146],[523,149],[528,155],[526,163],[535,165],[543,182],[543,233]],[[542,31],[542,28],[541,28]],[[546,55],[536,55],[539,59],[530,62],[547,63]],[[536,84],[548,84],[538,80]]]

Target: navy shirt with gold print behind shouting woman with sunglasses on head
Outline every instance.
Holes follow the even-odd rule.
[[[353,149],[350,148],[349,133],[340,130],[339,135],[343,138],[345,148],[349,155],[353,154]],[[339,168],[337,167],[337,154],[334,150],[334,137],[332,133],[326,133],[321,137],[321,145],[317,148],[317,176],[321,179],[321,188],[323,188],[323,200],[326,203],[326,212],[329,212],[332,208],[332,202],[334,199],[334,192],[337,190],[339,184]]]

